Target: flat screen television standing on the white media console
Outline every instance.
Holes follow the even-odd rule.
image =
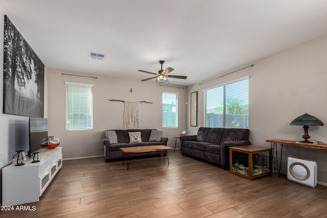
[[[48,119],[30,117],[29,120],[29,131],[30,131],[30,150],[28,156],[31,157],[33,152],[36,152],[41,147],[41,140],[48,137]]]

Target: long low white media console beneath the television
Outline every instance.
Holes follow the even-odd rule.
[[[62,167],[61,147],[40,150],[41,161],[10,164],[2,169],[2,205],[14,206],[39,201]]]

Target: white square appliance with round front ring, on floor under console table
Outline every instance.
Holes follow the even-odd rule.
[[[288,157],[287,179],[314,188],[317,185],[316,161]]]

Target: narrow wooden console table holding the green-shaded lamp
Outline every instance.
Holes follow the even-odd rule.
[[[271,150],[272,150],[272,156],[275,151],[276,154],[276,162],[277,162],[277,173],[281,175],[281,165],[282,165],[282,155],[283,155],[283,146],[295,146],[295,147],[302,147],[302,148],[309,148],[309,149],[321,149],[321,150],[327,150],[327,144],[305,144],[305,143],[299,143],[297,141],[290,141],[290,140],[281,140],[281,139],[271,139],[266,140],[266,142],[271,143]],[[278,156],[277,156],[277,144],[281,144],[281,158],[279,159],[279,167],[278,167]]]

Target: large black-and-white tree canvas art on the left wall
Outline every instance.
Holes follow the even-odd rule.
[[[6,15],[3,113],[44,115],[44,64]]]

